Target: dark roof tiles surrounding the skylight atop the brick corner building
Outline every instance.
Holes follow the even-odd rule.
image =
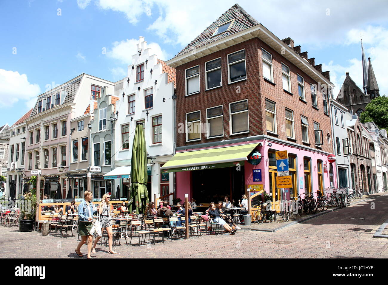
[[[212,37],[218,26],[231,20],[234,20],[234,22],[232,26],[230,26],[229,31]],[[219,17],[215,22],[213,22],[213,24],[208,26],[208,28],[206,28],[199,36],[192,40],[192,42],[189,43],[176,56],[185,54],[186,52],[190,52],[191,50],[207,45],[221,38],[225,38],[244,29],[251,28],[257,24],[258,22],[253,17],[249,16],[249,14],[245,12],[245,10],[240,7],[240,5],[235,4],[225,13],[223,13],[221,17]]]

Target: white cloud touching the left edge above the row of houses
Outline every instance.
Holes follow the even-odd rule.
[[[12,107],[19,101],[24,101],[29,108],[36,102],[36,96],[41,94],[38,84],[28,82],[26,74],[17,71],[0,69],[0,108]]]

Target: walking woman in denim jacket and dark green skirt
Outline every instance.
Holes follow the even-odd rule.
[[[90,200],[93,199],[92,192],[85,191],[83,197],[85,200],[78,206],[78,233],[81,236],[81,241],[78,243],[75,252],[79,257],[82,257],[81,246],[88,240],[88,258],[92,258],[90,252],[92,251],[93,236],[90,234],[90,230],[93,228],[93,216],[90,216],[90,214],[97,213],[98,208],[94,207],[93,203],[90,203]]]

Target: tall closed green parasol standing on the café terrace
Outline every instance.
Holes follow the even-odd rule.
[[[139,212],[144,213],[148,204],[147,178],[147,147],[145,145],[143,123],[136,123],[132,145],[129,212],[136,209],[136,214],[139,214]]]

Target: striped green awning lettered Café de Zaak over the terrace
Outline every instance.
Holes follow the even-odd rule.
[[[161,168],[162,173],[215,169],[244,165],[247,156],[261,143],[234,145],[216,149],[178,152]]]

